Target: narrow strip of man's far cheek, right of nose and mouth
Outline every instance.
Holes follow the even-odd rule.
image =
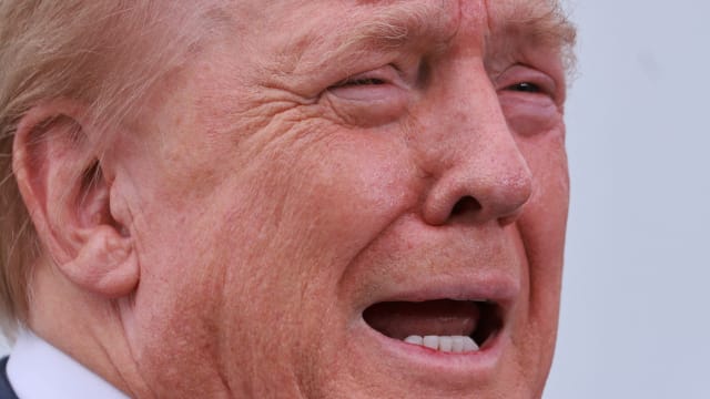
[[[516,362],[531,387],[541,389],[557,335],[569,202],[564,129],[518,137],[518,145],[532,172],[535,188],[516,222],[527,258],[528,289],[528,300],[518,314],[525,327],[515,335]]]

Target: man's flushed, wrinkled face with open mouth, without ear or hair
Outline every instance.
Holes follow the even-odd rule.
[[[215,16],[124,139],[114,182],[141,264],[124,323],[153,393],[539,396],[568,206],[565,71],[554,21],[516,21],[545,8]]]

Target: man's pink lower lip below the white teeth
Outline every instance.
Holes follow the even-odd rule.
[[[378,342],[383,352],[403,359],[419,369],[453,378],[487,378],[487,376],[493,375],[509,341],[506,329],[503,328],[495,336],[488,338],[478,351],[466,354],[444,352],[389,338],[369,327],[365,320],[362,320],[362,324],[364,325],[362,327],[364,327],[365,334],[369,336],[369,339]]]

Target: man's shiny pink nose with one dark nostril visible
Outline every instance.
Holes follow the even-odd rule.
[[[453,81],[435,98],[423,139],[423,167],[434,176],[424,198],[430,225],[515,222],[532,193],[532,175],[508,129],[487,73]],[[464,74],[454,74],[464,76]]]

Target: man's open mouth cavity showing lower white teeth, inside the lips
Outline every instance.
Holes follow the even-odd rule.
[[[500,307],[478,300],[383,301],[363,318],[389,338],[450,354],[485,348],[503,327]]]

